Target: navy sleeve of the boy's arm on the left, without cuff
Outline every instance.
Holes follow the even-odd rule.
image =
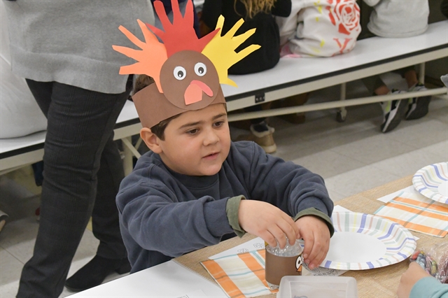
[[[159,183],[129,185],[117,196],[125,232],[141,248],[170,257],[214,245],[232,233],[225,213],[227,201],[202,197],[179,202]]]

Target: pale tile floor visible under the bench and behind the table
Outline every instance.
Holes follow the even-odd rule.
[[[386,80],[389,85],[400,85],[396,76]],[[348,98],[368,95],[360,81],[347,84],[347,90]],[[330,87],[313,92],[309,100],[337,100],[338,94],[338,87]],[[382,115],[378,104],[348,110],[343,123],[335,121],[335,110],[307,113],[302,125],[271,120],[278,146],[275,155],[323,176],[334,201],[411,175],[428,164],[448,161],[447,96],[433,97],[425,118],[402,121],[388,134],[379,132]],[[232,129],[232,134],[239,133],[241,130]],[[0,234],[0,297],[15,296],[20,271],[34,246],[39,190],[30,175],[29,169],[22,169],[0,177],[0,209],[10,215]],[[97,244],[86,230],[69,275],[90,260]],[[70,294],[64,290],[61,297]]]

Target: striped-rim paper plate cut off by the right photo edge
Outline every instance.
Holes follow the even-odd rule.
[[[419,169],[412,177],[412,184],[423,196],[448,204],[448,162]]]

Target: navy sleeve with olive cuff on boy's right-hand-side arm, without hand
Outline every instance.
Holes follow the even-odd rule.
[[[268,155],[253,142],[238,142],[243,157],[235,162],[237,171],[248,187],[248,199],[266,201],[277,206],[295,220],[315,215],[333,232],[330,216],[333,202],[323,178],[303,166]]]

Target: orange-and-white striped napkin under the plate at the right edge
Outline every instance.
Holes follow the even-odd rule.
[[[423,234],[441,238],[448,234],[448,205],[419,193],[402,192],[374,214]]]

